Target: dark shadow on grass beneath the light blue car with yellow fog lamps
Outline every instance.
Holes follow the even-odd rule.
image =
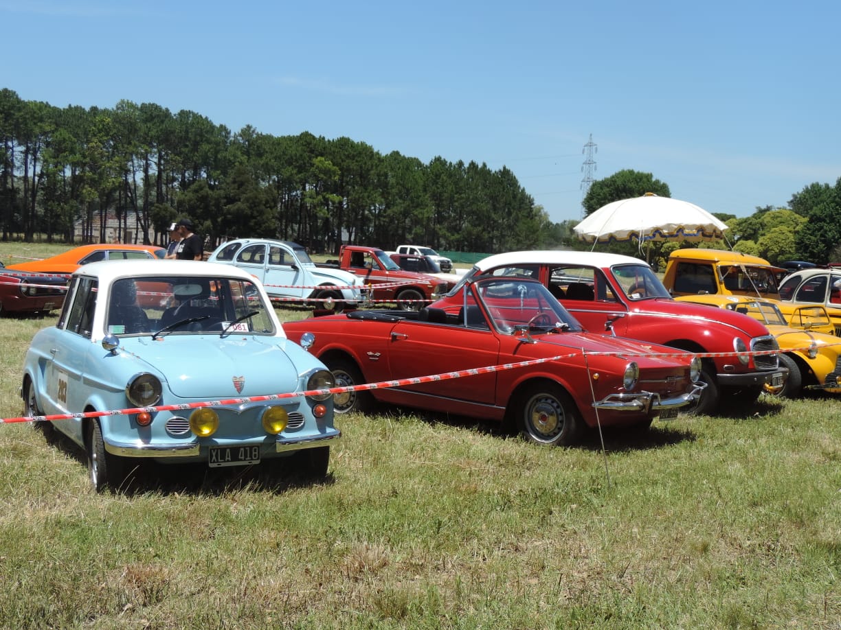
[[[45,430],[46,429],[46,430]],[[87,454],[53,428],[38,428],[47,444],[74,459],[87,475]],[[125,459],[126,478],[119,488],[122,496],[140,496],[149,493],[220,496],[232,491],[251,490],[283,494],[284,492],[312,486],[327,486],[334,482],[333,475],[312,477],[301,473],[296,454],[280,459],[265,460],[260,465],[223,466],[209,468],[204,464],[159,464],[150,459]]]

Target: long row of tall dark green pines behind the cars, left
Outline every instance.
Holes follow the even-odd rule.
[[[348,138],[232,133],[191,112],[120,101],[56,108],[0,90],[3,240],[166,239],[188,217],[236,236],[495,252],[557,246],[559,226],[503,167],[383,155]]]

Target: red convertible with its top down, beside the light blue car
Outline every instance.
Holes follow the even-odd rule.
[[[376,400],[505,420],[537,444],[574,444],[597,424],[647,428],[704,387],[694,354],[586,333],[537,281],[482,278],[465,283],[460,300],[458,313],[358,310],[283,328],[336,386],[407,380],[338,393],[336,413],[364,412]]]

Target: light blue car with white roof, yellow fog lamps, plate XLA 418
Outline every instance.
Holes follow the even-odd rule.
[[[324,476],[341,437],[333,397],[284,395],[334,383],[246,271],[127,260],[72,276],[58,323],[32,339],[21,394],[25,415],[77,414],[36,423],[85,449],[101,491],[123,486],[137,458],[217,468],[294,455]]]

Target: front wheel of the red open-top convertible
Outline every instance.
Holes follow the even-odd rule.
[[[549,382],[529,386],[517,404],[521,432],[529,442],[569,446],[579,440],[584,420],[561,386]]]

